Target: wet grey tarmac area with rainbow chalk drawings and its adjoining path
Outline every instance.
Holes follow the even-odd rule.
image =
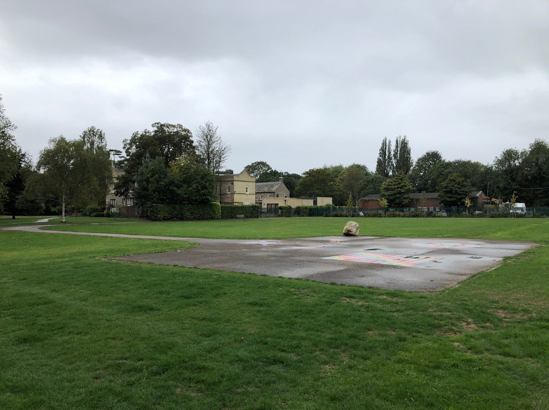
[[[535,246],[534,243],[524,242],[365,236],[279,241],[214,240],[52,231],[39,228],[17,226],[3,229],[191,241],[199,243],[200,246],[116,259],[410,291],[434,291],[454,286],[472,274],[496,266],[505,257]]]

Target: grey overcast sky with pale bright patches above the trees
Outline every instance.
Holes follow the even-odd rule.
[[[205,121],[226,164],[489,163],[549,139],[549,1],[2,0],[0,94],[34,160],[49,138]]]

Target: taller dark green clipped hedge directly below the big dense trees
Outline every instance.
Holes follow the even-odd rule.
[[[195,205],[153,203],[148,206],[148,218],[153,221],[221,219],[218,202]]]

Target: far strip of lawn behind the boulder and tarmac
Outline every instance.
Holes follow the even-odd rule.
[[[101,220],[101,223],[98,223]],[[549,219],[532,218],[358,218],[366,236],[445,237],[507,241],[544,240]],[[93,221],[96,225],[89,225]],[[283,239],[341,235],[344,218],[271,218],[150,222],[138,219],[67,218],[69,225],[48,229],[127,235],[220,239]],[[109,223],[110,222],[110,223]]]

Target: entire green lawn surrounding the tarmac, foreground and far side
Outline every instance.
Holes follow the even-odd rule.
[[[97,219],[63,229],[282,238],[345,222]],[[549,221],[359,222],[540,246],[423,294],[105,259],[184,242],[0,231],[0,408],[549,408]]]

